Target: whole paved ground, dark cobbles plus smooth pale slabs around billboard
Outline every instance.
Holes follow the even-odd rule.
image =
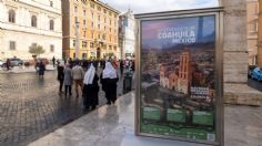
[[[36,73],[0,74],[0,146],[31,142],[32,146],[195,146],[135,137],[133,93],[122,96],[117,106],[103,106],[100,92],[100,108],[90,113],[83,109],[81,97],[59,95],[56,77],[54,71],[43,80]],[[262,146],[262,107],[225,105],[224,119],[225,146]]]

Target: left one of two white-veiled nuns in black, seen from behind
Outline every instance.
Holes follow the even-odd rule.
[[[95,69],[93,64],[90,65],[89,70],[84,74],[83,79],[83,105],[87,109],[91,108],[94,109],[99,104],[99,77],[95,73]]]

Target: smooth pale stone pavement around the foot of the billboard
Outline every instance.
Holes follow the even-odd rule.
[[[29,146],[204,146],[134,136],[134,94],[102,106]],[[225,106],[225,146],[262,146],[262,107]]]

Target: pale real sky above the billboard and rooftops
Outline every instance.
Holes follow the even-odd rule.
[[[127,11],[129,8],[134,13],[172,11],[183,9],[196,9],[218,7],[219,0],[100,0],[111,7]]]

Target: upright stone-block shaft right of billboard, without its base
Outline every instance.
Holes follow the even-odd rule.
[[[224,83],[248,82],[245,0],[222,0],[224,7]]]

